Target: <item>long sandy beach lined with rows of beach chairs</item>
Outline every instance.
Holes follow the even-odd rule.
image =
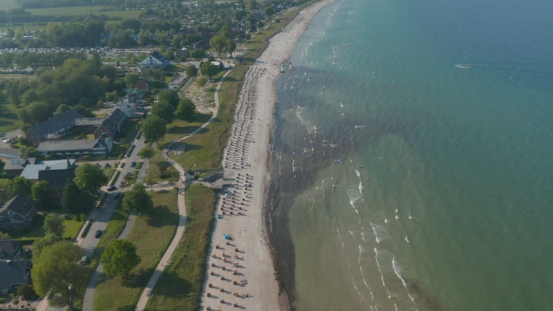
[[[268,47],[246,73],[223,159],[225,187],[216,207],[203,310],[285,309],[279,305],[279,285],[263,221],[277,101],[273,84],[281,75],[281,64],[287,64],[312,18],[330,1],[319,1],[299,12],[270,39]]]

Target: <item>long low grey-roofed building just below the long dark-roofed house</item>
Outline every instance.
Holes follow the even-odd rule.
[[[53,140],[41,142],[38,151],[44,155],[53,156],[106,156],[113,149],[113,139],[102,133],[94,140]]]

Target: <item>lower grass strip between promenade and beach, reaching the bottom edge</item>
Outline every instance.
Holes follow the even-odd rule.
[[[187,187],[185,234],[171,257],[171,265],[161,274],[147,310],[199,310],[215,199],[212,189]]]

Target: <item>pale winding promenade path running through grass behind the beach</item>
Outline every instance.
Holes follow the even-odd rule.
[[[176,142],[181,142],[182,140],[185,140],[192,135],[198,133],[198,131],[201,131],[206,126],[208,126],[211,122],[215,120],[217,117],[217,111],[219,110],[219,91],[221,90],[221,85],[223,84],[223,80],[225,77],[230,73],[230,70],[221,77],[221,81],[217,83],[217,86],[215,88],[214,93],[214,100],[215,100],[215,111],[212,114],[212,117],[209,118],[204,124],[202,124],[198,129],[194,130],[192,133],[189,133],[188,135],[185,135],[182,138],[179,138],[178,140],[175,140],[173,143],[171,143],[167,148],[162,150],[162,156],[167,160],[167,162],[171,163],[173,167],[178,171],[179,173],[179,182],[178,182],[178,227],[177,231],[175,233],[175,236],[173,237],[173,240],[171,240],[171,243],[169,244],[169,247],[167,247],[167,250],[165,251],[165,254],[163,254],[160,262],[158,263],[156,270],[153,272],[152,276],[150,277],[150,280],[148,281],[148,285],[146,285],[146,288],[142,291],[142,294],[140,295],[140,298],[138,299],[138,303],[136,304],[135,311],[142,311],[146,310],[146,306],[148,304],[148,300],[150,299],[150,296],[153,294],[153,288],[156,287],[156,283],[158,283],[158,280],[160,279],[160,276],[165,270],[165,267],[169,265],[171,261],[171,256],[173,256],[173,253],[175,252],[175,249],[178,246],[178,243],[180,243],[180,239],[182,238],[182,234],[185,233],[185,227],[186,227],[186,205],[185,205],[185,169],[183,169],[178,163],[176,163],[174,160],[169,158],[169,150]]]

